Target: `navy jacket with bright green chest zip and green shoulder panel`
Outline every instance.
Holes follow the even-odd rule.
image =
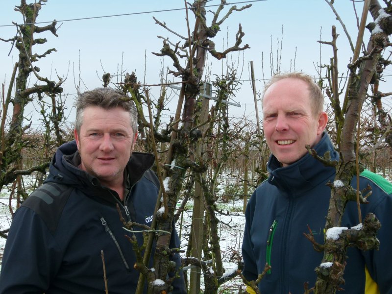
[[[321,156],[330,151],[332,160],[339,158],[326,133],[315,149]],[[256,280],[268,262],[272,268],[259,283],[261,293],[302,294],[304,282],[309,282],[309,288],[314,287],[315,268],[323,257],[323,252],[316,252],[303,233],[308,233],[309,225],[316,241],[323,244],[331,195],[331,189],[325,184],[333,182],[335,168],[324,167],[310,154],[284,168],[271,156],[268,168],[268,180],[256,189],[246,207],[243,273],[247,280]],[[377,233],[380,250],[348,248],[344,293],[365,293],[365,287],[371,281],[366,277],[367,267],[381,294],[391,294],[392,185],[381,176],[366,171],[360,176],[360,190],[368,184],[372,195],[368,204],[361,205],[361,211],[363,217],[373,212],[382,224]],[[352,185],[356,187],[355,178]],[[357,204],[352,201],[346,206],[342,226],[349,228],[357,224]]]

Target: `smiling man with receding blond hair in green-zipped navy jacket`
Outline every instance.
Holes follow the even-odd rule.
[[[256,280],[266,263],[271,269],[258,287],[261,293],[301,294],[304,282],[314,287],[315,268],[320,266],[322,252],[313,249],[303,233],[312,229],[319,244],[324,243],[325,216],[335,168],[325,167],[308,154],[306,145],[317,154],[339,154],[324,131],[327,114],[323,111],[323,95],[312,78],[302,73],[279,74],[266,86],[263,97],[263,127],[272,152],[268,162],[270,176],[251,196],[246,207],[246,223],[242,246],[243,274]],[[356,187],[356,179],[351,183]],[[362,215],[374,213],[382,226],[377,233],[380,250],[347,250],[344,270],[344,293],[392,293],[392,185],[372,172],[360,176],[360,190],[370,185],[369,203],[361,206]],[[346,206],[342,228],[358,225],[356,203]],[[359,229],[360,226],[357,226]],[[324,265],[327,267],[328,265]],[[249,293],[252,289],[247,288]]]

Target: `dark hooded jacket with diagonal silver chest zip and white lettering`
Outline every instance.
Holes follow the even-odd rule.
[[[124,201],[77,168],[79,163],[74,141],[59,147],[44,185],[16,211],[2,259],[0,294],[104,293],[101,251],[109,293],[135,292],[136,256],[116,204],[126,221],[151,224],[158,195],[156,176],[149,170],[154,157],[132,154],[126,166],[130,193]],[[142,245],[142,233],[135,235]],[[171,247],[178,246],[173,229]],[[180,266],[178,254],[172,260]],[[182,270],[180,274],[173,293],[186,293]]]

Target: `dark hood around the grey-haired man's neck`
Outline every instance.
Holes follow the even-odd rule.
[[[52,158],[49,166],[49,176],[45,182],[57,182],[72,186],[88,196],[99,196],[107,200],[107,191],[110,189],[102,186],[97,177],[79,169],[80,162],[81,159],[76,141],[73,140],[63,144],[56,150]],[[131,187],[141,179],[154,162],[155,157],[150,153],[132,153],[126,165],[126,170],[131,178]],[[110,191],[114,196],[118,197],[116,192]]]

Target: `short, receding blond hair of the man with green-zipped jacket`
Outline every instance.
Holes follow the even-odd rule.
[[[293,73],[277,73],[275,74],[268,83],[264,86],[264,92],[263,92],[263,98],[264,95],[266,94],[268,88],[273,83],[276,83],[277,81],[280,81],[285,78],[296,78],[299,80],[304,81],[308,85],[308,90],[309,90],[309,95],[310,95],[310,101],[311,101],[311,108],[312,108],[312,114],[314,117],[317,117],[321,112],[324,110],[324,95],[322,94],[321,88],[318,84],[314,82],[314,79],[312,76],[306,73],[298,73],[298,72],[293,72]]]

